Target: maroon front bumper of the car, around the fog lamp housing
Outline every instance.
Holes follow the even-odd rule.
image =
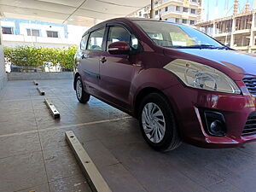
[[[250,113],[256,111],[256,99],[251,96],[243,82],[236,82],[242,95],[232,95],[208,90],[197,90],[177,84],[163,90],[168,96],[177,119],[183,141],[202,148],[234,148],[256,141],[256,134],[242,135]],[[207,134],[201,110],[222,113],[226,135],[215,137]]]

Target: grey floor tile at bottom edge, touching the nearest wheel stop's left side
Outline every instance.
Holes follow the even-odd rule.
[[[91,192],[83,175],[65,177],[49,183],[50,192]]]

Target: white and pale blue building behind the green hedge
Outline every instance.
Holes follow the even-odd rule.
[[[66,47],[79,44],[84,26],[68,26],[36,20],[2,18],[3,46]]]

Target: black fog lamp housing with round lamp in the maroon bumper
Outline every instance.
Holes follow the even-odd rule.
[[[214,111],[204,112],[207,133],[215,137],[224,137],[226,135],[226,125],[224,115]]]

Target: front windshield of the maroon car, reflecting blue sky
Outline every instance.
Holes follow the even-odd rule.
[[[162,21],[137,20],[155,44],[177,49],[226,49],[213,38],[189,26],[173,25]]]

